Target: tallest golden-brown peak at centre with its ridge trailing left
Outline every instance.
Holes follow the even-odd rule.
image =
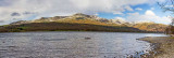
[[[10,25],[21,25],[21,24],[28,24],[28,23],[49,23],[49,21],[71,23],[70,20],[82,20],[82,19],[109,23],[109,19],[107,18],[101,18],[95,15],[86,15],[86,14],[77,13],[71,16],[41,17],[35,20],[20,20],[20,21],[12,23]]]

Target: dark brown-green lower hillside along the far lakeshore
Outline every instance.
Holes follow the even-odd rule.
[[[140,32],[132,27],[101,26],[90,24],[72,23],[32,23],[23,25],[1,26],[0,32],[23,31],[115,31],[115,32]]]

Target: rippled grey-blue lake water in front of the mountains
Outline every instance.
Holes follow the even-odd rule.
[[[125,58],[150,49],[136,39],[165,37],[130,32],[13,32],[0,33],[0,58]]]

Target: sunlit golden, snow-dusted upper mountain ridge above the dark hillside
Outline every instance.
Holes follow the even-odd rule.
[[[136,28],[141,31],[148,31],[148,32],[164,32],[165,28],[167,27],[166,25],[162,24],[156,24],[152,21],[142,21],[142,23],[128,23],[123,19],[107,19],[107,18],[101,18],[96,15],[86,15],[82,13],[77,13],[71,16],[54,16],[54,17],[41,17],[39,19],[34,19],[34,20],[18,20],[11,23],[11,26],[20,26],[20,25],[32,25],[32,24],[44,24],[45,23],[59,23],[59,24],[79,24],[79,25],[97,25],[97,26],[105,26],[105,27],[117,27],[123,28],[123,27],[129,27],[130,29]],[[70,26],[71,26],[70,25]],[[34,25],[35,26],[35,25]],[[69,26],[69,27],[70,27]],[[100,27],[101,28],[101,27]],[[78,28],[80,30],[80,28]],[[139,31],[138,30],[138,31]]]

